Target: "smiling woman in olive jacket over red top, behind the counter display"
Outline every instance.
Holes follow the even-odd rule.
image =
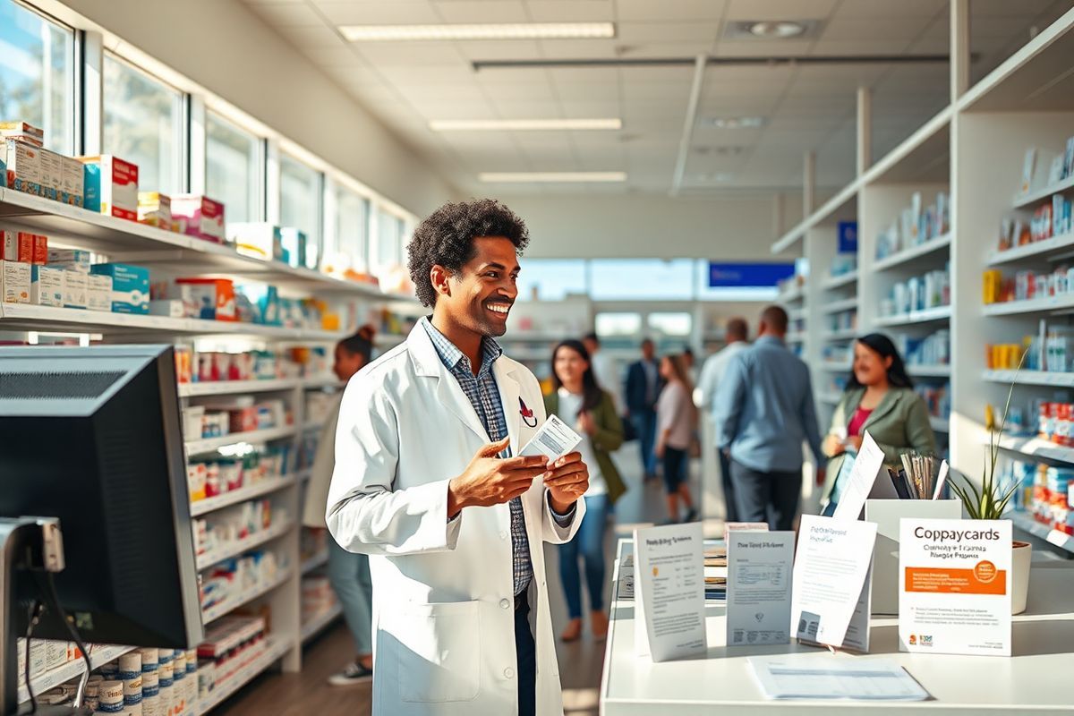
[[[891,467],[900,465],[903,453],[937,452],[925,400],[914,392],[895,344],[880,333],[854,341],[854,368],[824,441],[824,452],[831,458],[822,493],[828,502],[825,514],[834,512],[839,503],[848,477],[841,473],[841,468],[847,455],[856,455],[861,449],[866,430]]]

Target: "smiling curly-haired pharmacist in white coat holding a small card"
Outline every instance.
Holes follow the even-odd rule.
[[[344,394],[326,520],[371,555],[374,715],[563,713],[541,544],[574,537],[589,472],[511,457],[545,420],[494,339],[527,243],[492,200],[425,219],[409,267],[433,315]]]

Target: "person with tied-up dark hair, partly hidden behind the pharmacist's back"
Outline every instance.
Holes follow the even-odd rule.
[[[365,367],[373,357],[372,325],[362,326],[358,333],[344,338],[335,347],[332,371],[346,383]],[[339,398],[343,392],[339,392]],[[328,508],[329,485],[335,469],[335,433],[339,421],[339,400],[329,412],[321,428],[314,455],[314,465],[306,484],[306,501],[302,524],[314,529],[326,529],[324,512]],[[354,660],[343,671],[329,677],[333,686],[347,686],[368,681],[373,676],[373,580],[369,578],[369,557],[347,552],[331,535],[329,547],[329,582],[343,607],[343,616],[354,640]]]

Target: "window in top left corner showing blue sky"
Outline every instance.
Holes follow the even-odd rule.
[[[45,131],[45,146],[74,154],[74,32],[0,0],[0,119]]]

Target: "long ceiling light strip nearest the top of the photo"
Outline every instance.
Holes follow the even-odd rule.
[[[408,40],[593,40],[614,38],[612,23],[509,23],[496,25],[343,25],[351,42]]]

